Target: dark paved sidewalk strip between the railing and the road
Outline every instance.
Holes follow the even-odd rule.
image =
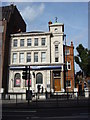
[[[90,107],[90,99],[82,100],[61,100],[61,99],[47,99],[47,100],[38,100],[38,101],[28,101],[18,100],[17,103],[15,100],[3,100],[2,108],[60,108],[60,107]]]

